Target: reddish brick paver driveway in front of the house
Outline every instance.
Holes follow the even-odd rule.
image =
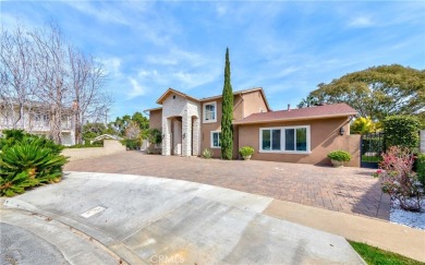
[[[389,219],[390,201],[373,170],[257,160],[202,159],[141,152],[77,160],[68,171],[129,173],[194,181],[349,214]],[[306,213],[307,214],[307,213]]]

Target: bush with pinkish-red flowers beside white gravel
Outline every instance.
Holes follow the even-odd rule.
[[[403,209],[421,210],[424,186],[412,170],[413,162],[409,148],[391,146],[382,154],[379,169],[373,176],[381,180],[382,191],[398,200]]]

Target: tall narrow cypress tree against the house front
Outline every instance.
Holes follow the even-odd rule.
[[[230,160],[233,153],[233,92],[230,84],[229,48],[226,50],[224,86],[222,88],[221,158]]]

